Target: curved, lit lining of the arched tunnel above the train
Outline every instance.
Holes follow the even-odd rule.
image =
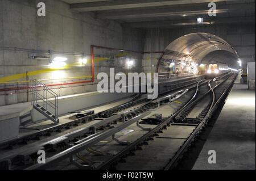
[[[167,72],[171,64],[191,65],[222,62],[238,69],[239,56],[228,42],[210,33],[190,33],[172,41],[164,50],[157,72]]]

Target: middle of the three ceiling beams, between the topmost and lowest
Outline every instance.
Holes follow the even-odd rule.
[[[218,5],[216,13],[236,11],[236,10],[255,10],[255,3],[246,4],[228,4]],[[208,3],[198,6],[172,6],[154,9],[133,9],[133,10],[115,10],[115,11],[100,11],[97,12],[97,18],[101,19],[132,19],[132,18],[151,18],[164,16],[189,16],[195,14],[207,14],[209,10]]]

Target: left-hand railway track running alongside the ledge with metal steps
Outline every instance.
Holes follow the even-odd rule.
[[[196,80],[187,83],[185,86],[193,87],[195,83],[197,83]],[[183,87],[182,85],[177,85],[171,91]],[[163,95],[166,94],[168,92],[164,92]],[[81,117],[79,119],[42,129],[15,140],[2,143],[0,145],[0,167],[6,169],[24,169],[28,165],[35,163],[38,150],[46,150],[48,155],[52,155],[52,153],[69,148],[78,140],[87,138],[96,131],[106,131],[114,128],[114,125],[118,125],[119,122],[123,123],[123,121],[133,119],[133,117],[146,112],[146,110],[154,107],[156,104],[152,104],[151,101],[137,95],[125,104],[98,113],[86,111],[82,116],[80,115]],[[84,125],[88,126],[84,127]],[[62,136],[59,136],[60,134]]]

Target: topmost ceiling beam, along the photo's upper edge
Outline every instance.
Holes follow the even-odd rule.
[[[114,9],[130,9],[139,7],[156,7],[156,6],[170,6],[170,5],[186,5],[204,2],[226,2],[236,0],[115,0],[103,2],[88,2],[71,4],[71,9],[78,11],[102,11]]]

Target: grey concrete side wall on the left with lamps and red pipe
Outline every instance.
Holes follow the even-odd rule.
[[[62,83],[63,77],[89,76],[90,45],[101,45],[113,48],[142,50],[141,31],[122,28],[121,24],[94,18],[93,13],[80,14],[69,9],[67,3],[59,0],[46,0],[46,16],[37,16],[36,0],[0,0],[0,82],[1,78],[10,75],[24,74],[26,71],[49,69],[49,60],[32,60],[29,52],[43,50],[40,56],[49,56],[47,50],[53,50],[54,56],[65,56],[70,65],[68,69],[57,71],[36,71],[28,79],[51,79],[44,83]],[[21,48],[15,50],[16,48]],[[8,50],[7,50],[8,49]],[[56,53],[57,52],[57,53]],[[88,58],[85,66],[76,66],[84,53]],[[109,67],[118,67],[118,71],[142,71],[140,54],[126,54],[126,57],[139,60],[131,68],[126,67],[126,60],[113,58],[120,52],[110,52],[96,49],[98,58],[95,62],[95,76],[101,71],[109,71]],[[121,55],[122,56],[122,55]],[[125,68],[124,68],[125,67]],[[57,79],[56,79],[57,78]],[[52,80],[53,79],[53,80]],[[81,78],[82,79],[82,78]],[[23,81],[22,78],[13,78],[10,81]],[[66,82],[80,79],[65,79]],[[97,82],[95,82],[97,83]],[[59,86],[55,91],[60,96],[95,91],[92,83],[72,86]],[[0,84],[0,89],[17,87],[16,83]],[[26,86],[26,83],[19,83]],[[66,88],[64,88],[66,87]],[[0,91],[0,106],[27,101],[26,90]]]

